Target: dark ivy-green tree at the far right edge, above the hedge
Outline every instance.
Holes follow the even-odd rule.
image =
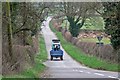
[[[111,35],[114,49],[120,49],[120,2],[103,3],[106,33]]]

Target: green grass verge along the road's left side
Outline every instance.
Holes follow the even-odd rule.
[[[23,80],[36,80],[35,78],[39,78],[40,74],[45,70],[45,65],[43,62],[47,60],[47,51],[45,47],[44,38],[40,36],[39,38],[39,53],[35,56],[35,65],[33,67],[29,66],[28,69],[21,72],[17,75],[10,75],[3,77],[2,80],[19,80],[20,78],[24,78]],[[21,80],[21,79],[20,79]]]

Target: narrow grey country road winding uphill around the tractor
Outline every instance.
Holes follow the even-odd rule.
[[[81,65],[80,63],[73,60],[62,48],[64,51],[64,60],[61,61],[54,59],[50,60],[49,51],[51,50],[51,41],[56,39],[56,35],[49,28],[50,17],[44,22],[45,26],[42,29],[42,34],[45,39],[46,49],[48,52],[48,61],[44,64],[48,67],[45,71],[43,78],[111,78],[109,80],[114,80],[118,77],[117,72],[95,70]],[[107,80],[107,79],[105,79]]]

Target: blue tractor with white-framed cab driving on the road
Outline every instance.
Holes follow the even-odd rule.
[[[60,49],[60,40],[53,39],[52,40],[52,50],[50,51],[51,60],[53,58],[60,57],[61,60],[63,60],[63,51]]]

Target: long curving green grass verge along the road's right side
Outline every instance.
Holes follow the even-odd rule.
[[[94,68],[94,69],[118,71],[118,64],[110,63],[105,60],[101,60],[95,56],[90,56],[90,55],[85,54],[82,50],[80,50],[79,48],[71,44],[70,42],[66,41],[64,37],[62,36],[61,32],[58,32],[53,28],[53,25],[51,22],[49,25],[50,25],[51,30],[60,39],[61,44],[63,48],[65,49],[65,51],[76,61],[90,68]]]

